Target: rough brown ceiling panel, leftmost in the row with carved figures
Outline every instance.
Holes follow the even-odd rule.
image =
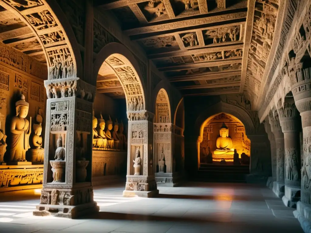
[[[160,53],[162,51],[174,51],[180,49],[177,40],[173,35],[140,40],[138,41],[138,43],[143,48],[152,53]]]

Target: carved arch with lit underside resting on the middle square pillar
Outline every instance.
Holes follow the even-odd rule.
[[[127,103],[127,111],[146,110],[145,84],[138,62],[132,53],[120,43],[109,43],[100,50],[93,63],[92,85],[96,85],[97,74],[106,62],[118,77]],[[133,104],[138,102],[138,105]]]

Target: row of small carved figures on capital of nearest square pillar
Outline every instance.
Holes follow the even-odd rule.
[[[78,98],[91,101],[93,94],[83,88],[77,88],[77,81],[51,83],[46,88],[48,98],[65,98],[77,96]]]

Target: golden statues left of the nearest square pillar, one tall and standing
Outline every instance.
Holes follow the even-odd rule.
[[[38,108],[36,123],[33,125],[34,132],[31,132],[30,121],[26,119],[29,111],[29,103],[26,102],[25,96],[21,94],[20,100],[15,103],[16,113],[12,117],[9,137],[9,156],[8,162],[27,162],[26,152],[31,149],[42,149],[42,109]],[[31,139],[30,139],[31,136]],[[6,135],[0,130],[0,147],[6,145]],[[43,162],[43,151],[39,161]],[[3,162],[3,161],[0,161]]]

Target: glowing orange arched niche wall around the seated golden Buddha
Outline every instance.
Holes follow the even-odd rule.
[[[236,149],[241,158],[241,154],[245,153],[250,156],[250,140],[245,133],[245,126],[237,117],[231,114],[220,112],[208,117],[200,128],[200,136],[197,144],[199,163],[220,162],[221,158],[225,158],[226,162],[233,162],[233,155],[214,155],[217,149],[216,141],[220,137],[220,128],[225,124],[228,128],[228,140],[232,142],[231,149]]]

